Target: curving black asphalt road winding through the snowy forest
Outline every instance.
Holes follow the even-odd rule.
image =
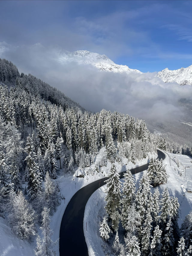
[[[158,158],[164,159],[165,154],[157,150]],[[140,173],[148,169],[149,164],[144,164],[137,168],[131,169],[131,173]],[[123,174],[119,173],[120,179],[123,178]],[[60,256],[88,256],[87,244],[85,242],[84,232],[83,232],[83,217],[85,211],[85,205],[95,190],[105,185],[105,177],[100,180],[96,180],[85,187],[79,189],[69,201],[64,215],[61,220],[60,227],[60,239],[59,239],[59,254]]]

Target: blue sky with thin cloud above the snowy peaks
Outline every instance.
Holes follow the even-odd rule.
[[[9,47],[88,50],[142,72],[192,65],[192,1],[0,1],[0,9]]]

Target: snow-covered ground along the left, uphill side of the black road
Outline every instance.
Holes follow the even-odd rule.
[[[65,148],[65,147],[64,147]],[[55,182],[58,182],[60,187],[61,195],[65,197],[65,200],[61,200],[61,204],[58,206],[57,211],[54,213],[53,216],[51,216],[51,223],[50,227],[53,230],[52,240],[56,241],[59,238],[59,231],[60,231],[60,225],[61,220],[65,211],[65,208],[67,207],[67,204],[69,203],[70,199],[73,197],[73,195],[82,187],[88,185],[89,183],[101,179],[108,175],[108,172],[110,170],[111,164],[110,162],[107,163],[107,167],[101,167],[103,173],[95,173],[94,175],[85,175],[84,178],[77,178],[81,173],[86,173],[86,171],[89,168],[94,169],[95,164],[101,161],[101,159],[106,156],[105,147],[103,147],[99,154],[95,158],[95,163],[92,164],[90,167],[86,167],[83,170],[81,168],[76,168],[76,173],[74,175],[71,175],[70,173],[65,173],[63,169],[58,171],[58,178],[55,179]],[[122,172],[127,169],[131,169],[143,164],[146,164],[150,161],[152,157],[157,157],[157,154],[150,154],[146,159],[137,161],[136,164],[133,164],[132,162],[128,162],[127,158],[123,158],[123,164],[122,163],[115,163],[116,167],[119,172]],[[61,159],[61,166],[62,166],[63,158]],[[58,167],[60,166],[58,161]],[[76,176],[75,176],[76,175]],[[7,220],[0,217],[0,256],[21,256],[21,255],[27,255],[27,256],[34,256],[34,249],[36,246],[35,239],[34,241],[29,244],[25,240],[19,239],[11,230],[11,227],[9,224],[7,224]],[[38,232],[40,231],[39,226],[37,227]],[[40,232],[41,236],[41,232]],[[56,255],[59,256],[59,242],[55,246]]]

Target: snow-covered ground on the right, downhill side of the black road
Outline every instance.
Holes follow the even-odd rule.
[[[176,163],[179,161],[179,167]],[[192,158],[186,155],[177,155],[166,153],[164,165],[168,173],[168,181],[166,184],[159,186],[159,191],[162,193],[165,187],[168,188],[170,196],[178,198],[179,207],[179,226],[182,223],[185,215],[189,214],[192,209],[192,194],[187,192],[188,182],[192,181]],[[187,167],[191,168],[187,168]],[[186,167],[186,168],[184,168]],[[143,176],[143,173],[137,173],[134,175],[136,187],[139,186],[139,181]],[[123,179],[121,179],[123,181]],[[105,201],[104,197],[106,185],[95,191],[89,198],[84,214],[84,234],[85,240],[88,246],[88,252],[90,256],[99,255],[104,256],[107,252],[107,244],[103,242],[99,233],[99,222],[105,215]],[[152,193],[154,188],[152,188]],[[87,230],[86,230],[87,223]],[[120,241],[121,242],[121,241]],[[106,246],[106,247],[105,247]],[[105,250],[105,253],[104,253]]]

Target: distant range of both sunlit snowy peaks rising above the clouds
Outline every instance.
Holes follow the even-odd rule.
[[[98,53],[91,53],[86,50],[79,50],[75,52],[62,52],[60,54],[61,62],[77,62],[78,64],[88,64],[95,66],[102,71],[115,72],[115,73],[130,73],[137,72],[142,74],[141,71],[137,69],[131,69],[126,65],[118,65],[109,59],[106,55],[101,55]],[[165,68],[156,74],[156,77],[161,78],[165,83],[176,82],[180,85],[192,85],[192,65],[187,68],[180,68],[177,70],[169,70]]]

